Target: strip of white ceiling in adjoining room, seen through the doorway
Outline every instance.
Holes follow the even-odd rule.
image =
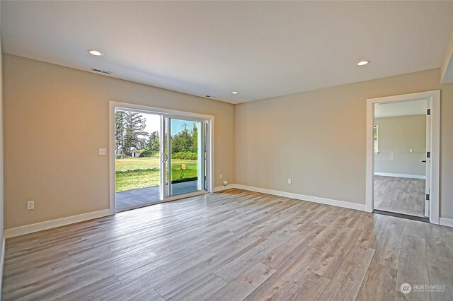
[[[426,100],[381,103],[374,106],[374,117],[396,117],[426,114]]]

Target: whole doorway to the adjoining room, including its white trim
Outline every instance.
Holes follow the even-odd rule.
[[[367,100],[367,211],[439,223],[440,91]]]

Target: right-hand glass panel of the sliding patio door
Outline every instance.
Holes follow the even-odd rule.
[[[164,117],[164,199],[207,188],[207,121]]]

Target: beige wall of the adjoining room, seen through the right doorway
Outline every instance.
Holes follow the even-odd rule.
[[[374,172],[425,176],[426,115],[376,118],[374,124],[379,133]]]

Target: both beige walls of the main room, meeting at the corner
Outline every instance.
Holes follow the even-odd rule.
[[[108,147],[110,100],[213,114],[216,186],[365,204],[366,99],[437,89],[441,217],[453,218],[453,84],[440,85],[440,69],[236,106],[8,54],[4,73],[7,229],[108,208],[98,148]]]

